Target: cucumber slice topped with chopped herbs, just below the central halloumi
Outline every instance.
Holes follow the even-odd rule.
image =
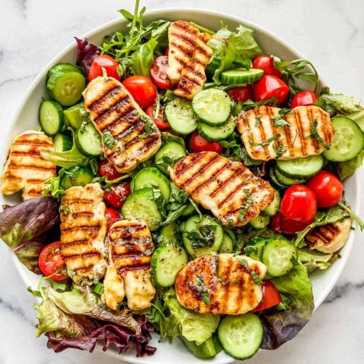
[[[206,247],[196,247],[196,240],[200,240],[201,243],[207,242],[206,237],[204,237],[201,231],[204,231],[202,226],[205,225],[213,225],[216,226],[214,230],[211,230],[212,239],[210,241],[210,246]],[[201,229],[202,228],[202,229]],[[183,229],[183,242],[187,252],[193,256],[198,257],[205,254],[211,254],[212,252],[217,252],[221,248],[222,240],[223,240],[223,229],[222,226],[211,216],[203,215],[200,221],[199,215],[191,216],[186,222]],[[195,237],[195,239],[193,238]],[[197,239],[196,239],[197,238]]]

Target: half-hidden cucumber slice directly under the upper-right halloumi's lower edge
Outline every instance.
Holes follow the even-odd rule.
[[[290,160],[278,160],[277,169],[287,177],[310,178],[319,173],[324,165],[323,156],[316,155],[307,158],[297,158]]]

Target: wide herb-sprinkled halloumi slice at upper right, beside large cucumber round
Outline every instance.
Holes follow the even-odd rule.
[[[291,114],[282,116],[289,125],[274,126],[279,111],[279,108],[260,106],[240,113],[237,127],[252,159],[304,158],[324,152],[323,143],[330,147],[335,129],[326,111],[317,106],[298,106]],[[314,126],[315,120],[317,126]],[[312,129],[323,143],[311,136]]]

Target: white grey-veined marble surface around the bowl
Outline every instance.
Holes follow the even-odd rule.
[[[310,59],[335,92],[364,99],[362,0],[141,0],[147,9],[198,7],[231,13],[285,38]],[[8,127],[26,88],[60,50],[90,29],[132,10],[123,0],[0,0],[0,125]],[[364,200],[362,203],[364,216]],[[0,363],[89,364],[120,361],[101,352],[55,354],[34,338],[33,297],[0,244]],[[291,342],[248,362],[339,364],[364,362],[364,234],[358,232],[347,266],[312,320]]]

